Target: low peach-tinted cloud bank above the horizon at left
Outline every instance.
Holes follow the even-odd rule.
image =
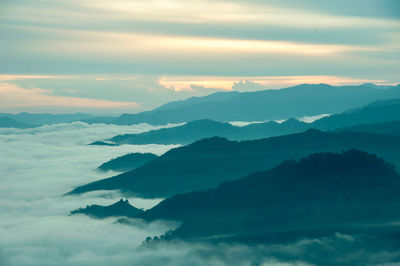
[[[61,97],[61,99],[102,99],[107,101],[97,102],[100,105],[115,103],[115,106],[107,108],[93,107],[87,108],[87,105],[65,107],[49,106],[46,104],[41,107],[11,107],[8,104],[3,105],[3,112],[18,111],[41,111],[41,112],[90,112],[100,114],[118,115],[122,112],[135,113],[155,108],[168,101],[188,98],[193,95],[203,96],[213,90],[201,90],[195,92],[174,91],[171,88],[160,84],[161,77],[158,75],[132,75],[132,74],[79,74],[73,77],[66,75],[43,76],[43,75],[0,75],[1,83],[7,83],[7,86],[14,86],[14,92],[8,94],[15,102],[17,88],[24,89],[24,95],[32,93],[35,88],[41,89],[41,101],[47,100],[47,96]],[[39,93],[39,91],[36,91]],[[42,94],[46,95],[46,98]],[[4,98],[5,99],[5,98]],[[19,102],[23,98],[18,99]],[[32,101],[32,98],[29,100]],[[5,100],[4,100],[5,101]],[[1,99],[0,99],[1,102]],[[57,103],[57,102],[54,102]]]

